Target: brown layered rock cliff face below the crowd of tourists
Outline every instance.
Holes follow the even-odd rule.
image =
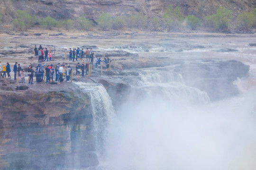
[[[17,87],[7,80],[0,83],[1,170],[98,164],[88,94],[74,84],[46,88],[42,84]]]

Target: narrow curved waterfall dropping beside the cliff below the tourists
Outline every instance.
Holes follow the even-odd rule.
[[[101,84],[82,82],[75,82],[75,84],[82,89],[83,93],[90,94],[96,151],[103,153],[107,128],[110,118],[115,112],[111,98]]]

